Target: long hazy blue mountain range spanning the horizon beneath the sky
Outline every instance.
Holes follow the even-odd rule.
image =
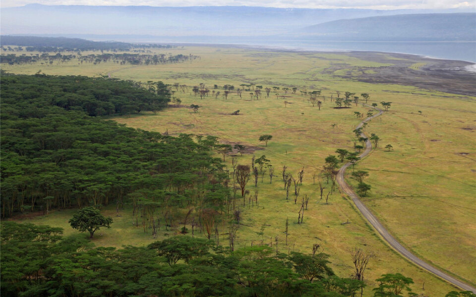
[[[161,36],[177,42],[202,42],[216,37],[239,42],[256,38],[345,38],[346,30],[365,36],[368,32],[385,36],[375,26],[386,26],[385,17],[405,14],[409,22],[418,21],[411,18],[417,13],[454,13],[467,12],[461,9],[301,9],[250,6],[192,6],[192,7],[156,7],[156,6],[87,6],[87,5],[41,5],[29,4],[21,7],[1,9],[0,32],[2,35],[69,36],[90,38],[88,36]],[[458,14],[460,15],[460,14]],[[368,18],[377,17],[377,18]],[[368,18],[362,21],[356,18]],[[449,24],[445,36],[451,37],[452,30],[458,32],[467,29],[459,27],[459,17],[452,18],[456,23]],[[354,19],[354,20],[351,20]],[[399,24],[405,25],[405,20]],[[329,23],[334,21],[334,23]],[[326,23],[327,22],[327,23]],[[317,25],[319,24],[319,25]],[[316,26],[313,26],[316,25]],[[394,29],[386,26],[385,28]],[[404,38],[409,29],[415,29],[413,23],[402,27],[402,32],[391,36]],[[431,29],[431,28],[430,28]],[[474,29],[474,27],[473,27]],[[371,30],[371,31],[370,31]],[[367,33],[366,33],[367,32]],[[428,33],[412,36],[438,37]],[[473,31],[472,31],[473,32]],[[368,33],[366,36],[371,36]],[[457,40],[469,34],[458,33]],[[199,36],[199,38],[197,38]],[[446,38],[446,37],[445,37]],[[118,40],[117,38],[115,38]],[[205,40],[204,40],[205,39]],[[103,39],[104,40],[104,39]],[[124,40],[124,39],[122,39]]]

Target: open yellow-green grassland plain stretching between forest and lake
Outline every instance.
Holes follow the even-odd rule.
[[[156,50],[164,53],[164,50]],[[382,140],[379,148],[361,160],[356,170],[367,170],[366,179],[372,191],[363,198],[389,231],[401,243],[434,265],[451,271],[470,283],[476,283],[476,223],[475,223],[475,172],[476,149],[474,122],[475,99],[459,95],[422,90],[399,84],[369,84],[344,80],[338,75],[347,73],[348,67],[384,67],[389,64],[365,61],[345,53],[278,52],[258,49],[184,47],[167,49],[177,54],[196,54],[200,59],[179,64],[158,66],[131,66],[115,63],[78,65],[76,62],[43,65],[5,65],[2,69],[13,73],[34,74],[38,70],[57,75],[107,75],[113,78],[141,82],[195,86],[235,85],[255,83],[263,87],[297,87],[322,90],[326,100],[321,110],[312,107],[299,91],[289,92],[285,99],[282,90],[265,92],[259,100],[251,99],[249,92],[242,99],[232,92],[228,99],[209,97],[200,99],[191,92],[175,92],[182,107],[171,107],[157,114],[146,113],[114,117],[119,123],[150,131],[168,132],[171,135],[192,133],[215,135],[229,144],[245,145],[259,157],[266,155],[276,168],[272,184],[269,176],[261,177],[258,187],[248,183],[250,194],[258,191],[259,207],[246,205],[242,226],[238,231],[238,245],[251,242],[275,245],[278,249],[295,249],[310,252],[314,243],[331,254],[332,266],[341,276],[352,273],[349,249],[361,247],[373,253],[366,280],[374,287],[374,279],[383,273],[400,272],[415,281],[414,292],[425,296],[444,296],[453,288],[433,275],[417,268],[388,247],[366,224],[353,204],[339,192],[331,196],[329,204],[318,197],[318,186],[313,184],[312,173],[321,169],[324,158],[336,148],[351,150],[352,130],[359,120],[354,111],[366,114],[368,107],[352,104],[349,109],[334,109],[330,102],[335,90],[369,93],[369,103],[391,101],[392,107],[366,127],[366,133],[375,133]],[[85,54],[85,53],[83,53]],[[379,53],[382,54],[382,53]],[[390,59],[390,57],[389,57]],[[421,65],[415,65],[415,67]],[[343,72],[343,73],[340,73]],[[173,89],[174,90],[174,89]],[[218,90],[223,93],[223,90]],[[292,102],[285,107],[284,100]],[[322,97],[321,97],[322,100]],[[198,104],[198,113],[184,106]],[[235,110],[239,115],[231,115]],[[421,114],[418,113],[421,111]],[[332,127],[332,124],[337,124]],[[273,135],[265,147],[258,142],[262,134]],[[391,144],[394,150],[386,151]],[[466,154],[461,154],[462,152]],[[217,155],[219,156],[219,155]],[[221,156],[221,155],[220,155]],[[249,164],[251,154],[238,156],[240,164]],[[231,157],[226,157],[231,169]],[[294,203],[293,194],[286,201],[286,192],[280,178],[281,167],[297,175],[304,167],[303,185],[298,203],[304,195],[310,196],[304,224],[298,225],[300,205]],[[348,172],[348,174],[350,174]],[[348,178],[352,185],[356,182]],[[317,180],[316,180],[317,182]],[[327,186],[327,185],[326,185]],[[324,190],[327,194],[328,189]],[[293,190],[291,190],[292,192]],[[68,227],[72,210],[55,211],[48,216],[20,220],[50,224],[65,228],[66,234],[76,231]],[[150,234],[132,225],[132,215],[126,206],[115,217],[114,207],[104,211],[114,217],[110,230],[101,230],[103,236],[94,239],[97,245],[142,245],[153,241]],[[285,246],[285,221],[289,217],[288,246]],[[351,224],[341,223],[349,220]],[[225,226],[219,226],[225,232]],[[263,235],[259,233],[263,230]],[[221,231],[220,231],[221,232]],[[177,233],[161,229],[159,238]],[[222,232],[221,232],[222,233]],[[168,234],[168,235],[166,235]],[[222,242],[226,242],[226,239]],[[424,283],[425,290],[422,290]],[[370,289],[366,295],[370,295]]]

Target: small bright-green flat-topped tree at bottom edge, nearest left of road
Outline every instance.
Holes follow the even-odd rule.
[[[373,289],[374,297],[402,297],[402,291],[412,292],[409,285],[413,284],[413,280],[405,277],[400,273],[383,274],[381,278],[376,279],[379,282],[377,288]]]

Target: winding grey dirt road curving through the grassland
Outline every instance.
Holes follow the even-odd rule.
[[[366,106],[368,107],[372,107],[372,106],[369,106],[367,104],[365,104]],[[373,108],[373,107],[372,107]],[[357,128],[360,128],[363,126],[363,123],[366,123],[368,121],[370,121],[371,119],[377,117],[377,116],[380,116],[383,114],[383,110],[379,109],[379,108],[375,108],[376,110],[378,110],[378,113],[371,116],[371,117],[368,117],[366,119],[364,119],[362,122],[360,122],[360,124],[357,126]],[[365,134],[360,134],[360,136],[362,137],[366,137]],[[370,142],[370,140],[367,139],[367,142],[366,142],[366,148],[365,148],[365,151],[359,156],[360,158],[363,158],[365,157],[366,155],[368,155],[368,153],[370,152],[370,150],[372,149],[372,143]],[[347,182],[345,181],[344,179],[344,174],[346,172],[346,169],[347,167],[349,167],[350,165],[352,165],[352,163],[346,163],[344,166],[342,166],[340,169],[339,169],[339,173],[337,175],[337,183],[339,184],[340,188],[342,189],[342,191],[349,195],[349,197],[352,198],[352,201],[354,201],[354,203],[356,204],[358,210],[360,211],[360,213],[368,220],[368,222],[373,226],[373,228],[375,230],[377,230],[377,232],[383,237],[383,239],[391,246],[393,247],[396,251],[398,251],[401,255],[403,255],[405,258],[409,259],[410,261],[412,261],[413,263],[415,263],[417,266],[421,267],[421,268],[424,268],[426,269],[427,271],[439,276],[440,278],[448,281],[449,283],[465,290],[465,291],[472,291],[473,293],[476,294],[476,288],[473,288],[472,286],[469,286],[465,283],[463,283],[462,281],[442,272],[441,270],[439,269],[436,269],[435,267],[431,266],[430,264],[426,263],[425,261],[421,260],[420,258],[418,258],[416,255],[414,255],[413,253],[411,253],[408,249],[406,249],[405,247],[403,247],[388,231],[387,229],[385,229],[385,227],[380,223],[380,221],[370,212],[370,210],[362,203],[362,201],[360,200],[360,198],[357,196],[357,194],[351,189],[351,187],[347,184]]]

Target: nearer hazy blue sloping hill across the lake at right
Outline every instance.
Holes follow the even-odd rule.
[[[297,30],[300,37],[346,41],[475,41],[476,13],[431,13],[336,20]]]

